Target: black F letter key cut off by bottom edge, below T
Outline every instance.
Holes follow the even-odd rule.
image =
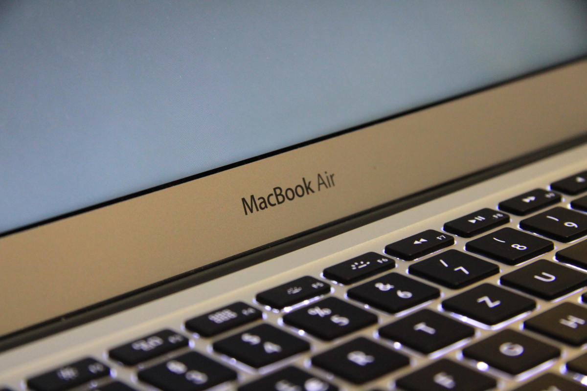
[[[496,387],[497,382],[477,370],[443,358],[397,379],[396,385],[406,391],[485,391]]]

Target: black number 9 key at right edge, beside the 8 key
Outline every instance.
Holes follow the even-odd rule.
[[[557,206],[522,220],[519,227],[568,243],[587,235],[587,215]]]

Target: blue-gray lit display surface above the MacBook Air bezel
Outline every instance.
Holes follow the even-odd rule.
[[[0,232],[585,53],[585,1],[2,2]]]

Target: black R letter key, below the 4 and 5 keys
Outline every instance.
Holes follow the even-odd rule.
[[[377,379],[409,363],[406,356],[362,336],[312,357],[312,365],[355,384]]]

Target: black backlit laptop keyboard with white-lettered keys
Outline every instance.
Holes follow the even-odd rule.
[[[532,315],[541,300],[560,300],[587,286],[587,274],[564,265],[587,268],[587,240],[559,250],[556,260],[561,263],[537,259],[554,250],[555,242],[587,235],[582,213],[587,196],[569,203],[557,193],[585,191],[587,172],[569,176],[551,189],[504,200],[499,210],[477,210],[446,222],[442,231],[430,227],[390,243],[383,253],[367,252],[332,264],[321,275],[259,291],[249,303],[242,298],[194,314],[184,329],[154,330],[112,346],[104,357],[63,363],[26,379],[26,387],[330,391],[346,384],[362,386],[404,369],[387,383],[390,389],[484,391],[503,388],[500,379],[526,378],[534,380],[508,389],[585,389],[573,378],[587,375],[587,354],[569,361],[567,375],[544,370],[561,356],[560,343],[587,342],[587,307],[581,304],[587,294],[581,301],[561,301]],[[506,212],[525,218],[519,226],[502,227],[511,222]],[[446,250],[456,243],[453,235],[464,246]],[[500,268],[529,260],[508,273]],[[407,273],[394,271],[400,263],[409,264]],[[474,285],[496,275],[498,284]],[[447,297],[436,285],[448,288]],[[335,291],[344,294],[332,295]],[[430,305],[439,297],[440,305]],[[382,313],[395,314],[396,320],[383,323]],[[276,314],[277,322],[268,322],[268,314]],[[524,319],[523,328],[508,327],[519,319]],[[372,325],[377,328],[371,338],[360,334]],[[489,334],[475,338],[481,330]],[[196,346],[198,339],[205,339],[208,348]],[[456,356],[447,355],[455,351]],[[294,365],[304,352],[309,359]],[[423,355],[433,361],[410,370],[413,359]],[[116,368],[130,369],[136,385],[116,379]],[[241,373],[254,376],[243,379]]]

